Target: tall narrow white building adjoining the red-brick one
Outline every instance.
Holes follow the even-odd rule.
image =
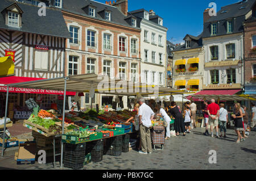
[[[141,28],[141,82],[166,86],[167,28],[163,27],[163,19],[152,10],[141,9],[129,14]]]

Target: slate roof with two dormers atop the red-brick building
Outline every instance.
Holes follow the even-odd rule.
[[[127,16],[125,16],[121,11],[118,10],[117,7],[111,6],[111,5],[106,5],[104,3],[96,2],[96,1],[91,1],[91,0],[63,0],[63,10],[68,10],[77,14],[82,14],[89,16],[88,13],[86,13],[83,8],[86,6],[94,6],[96,7],[96,15],[95,18],[105,20],[102,18],[98,12],[102,10],[109,10],[112,12],[112,18],[110,22],[118,23],[118,24],[123,24],[125,26],[132,27],[129,22],[127,22],[125,19]],[[94,18],[92,16],[89,16],[91,18]]]

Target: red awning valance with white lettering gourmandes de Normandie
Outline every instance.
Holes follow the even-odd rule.
[[[0,86],[0,92],[7,92],[7,86]],[[43,89],[26,89],[18,87],[9,87],[9,92],[13,93],[27,93],[27,94],[53,94],[64,95],[64,91],[43,90]],[[76,95],[76,92],[66,92],[66,95]]]

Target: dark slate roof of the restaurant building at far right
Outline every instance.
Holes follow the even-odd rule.
[[[255,2],[256,0],[247,0],[247,1],[238,2],[232,5],[222,7],[221,10],[217,12],[217,16],[212,16],[204,23],[203,38],[211,37],[211,28],[212,28],[211,24],[216,22],[218,22],[216,36],[227,35],[228,20],[232,20],[233,22],[232,33],[243,32],[243,22],[245,22],[245,15],[249,11],[251,11],[251,7],[253,7]],[[244,7],[244,8],[241,9],[241,7]]]

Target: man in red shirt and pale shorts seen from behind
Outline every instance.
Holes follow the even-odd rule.
[[[207,112],[209,115],[210,132],[212,132],[212,137],[213,137],[213,127],[215,127],[216,137],[220,138],[218,136],[218,116],[220,113],[220,106],[218,106],[218,104],[215,103],[214,99],[210,100],[210,102],[212,103],[209,104],[207,107]]]

